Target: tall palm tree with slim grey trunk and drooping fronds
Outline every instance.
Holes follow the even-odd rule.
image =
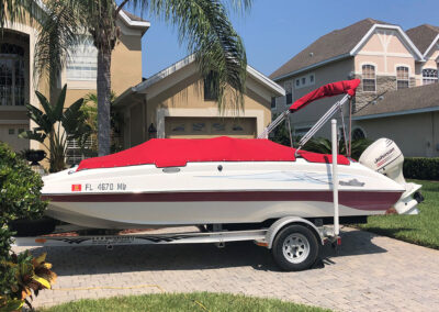
[[[0,4],[0,25],[5,18],[2,12],[16,13],[20,3],[26,8],[31,0],[7,0]],[[33,2],[33,1],[32,1]],[[228,2],[232,5],[226,7]],[[162,19],[172,24],[179,34],[180,44],[185,43],[195,54],[203,78],[210,77],[211,93],[215,94],[218,108],[243,109],[247,59],[241,38],[234,30],[228,9],[246,11],[251,0],[47,0],[45,19],[41,23],[36,44],[36,67],[58,73],[63,68],[69,46],[77,40],[80,30],[93,38],[98,48],[98,142],[99,155],[110,152],[110,97],[111,55],[120,30],[116,19],[127,5]],[[27,7],[30,8],[30,7]],[[43,70],[38,70],[42,73]],[[55,74],[50,80],[55,80]],[[226,97],[227,86],[233,97]]]

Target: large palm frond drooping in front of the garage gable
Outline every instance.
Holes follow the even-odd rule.
[[[133,1],[140,3],[144,1]],[[244,44],[235,32],[226,8],[218,0],[151,0],[153,15],[170,22],[178,30],[180,44],[195,54],[203,78],[212,75],[209,88],[217,97],[221,111],[244,108],[247,58]],[[230,86],[232,97],[226,97]]]

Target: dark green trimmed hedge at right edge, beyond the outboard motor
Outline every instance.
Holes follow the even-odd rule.
[[[404,159],[404,178],[439,180],[439,157],[407,157]]]

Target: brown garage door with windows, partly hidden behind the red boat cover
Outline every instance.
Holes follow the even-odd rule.
[[[256,137],[256,118],[166,118],[165,135],[169,138],[206,138],[227,135]]]

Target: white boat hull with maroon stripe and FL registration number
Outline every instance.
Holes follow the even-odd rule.
[[[334,215],[330,165],[295,161],[188,163],[65,170],[44,178],[47,215],[81,226],[130,229],[259,223]],[[383,214],[404,188],[358,164],[339,166],[339,214]]]

